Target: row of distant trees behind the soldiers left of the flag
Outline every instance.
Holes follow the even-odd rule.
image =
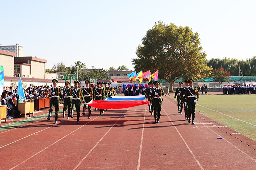
[[[119,66],[118,70],[128,70],[126,66]],[[115,70],[114,67],[110,67],[109,69],[105,70],[103,68],[96,69],[94,68],[90,72],[86,65],[80,61],[75,62],[74,65],[71,64],[70,67],[66,67],[63,62],[53,64],[52,69],[46,69],[45,72],[49,73],[58,73],[58,72],[67,72],[67,74],[77,74],[78,72],[78,80],[87,80],[90,77],[97,78],[98,80],[107,80],[108,79],[108,71]]]

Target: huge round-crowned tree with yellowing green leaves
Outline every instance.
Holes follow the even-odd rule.
[[[207,66],[206,53],[200,46],[197,32],[188,26],[167,25],[162,21],[155,23],[142,39],[136,50],[137,58],[132,59],[138,72],[159,71],[158,78],[171,85],[179,78],[202,80],[209,76],[212,68]]]

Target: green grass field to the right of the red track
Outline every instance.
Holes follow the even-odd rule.
[[[196,111],[256,141],[256,95],[200,95]]]

